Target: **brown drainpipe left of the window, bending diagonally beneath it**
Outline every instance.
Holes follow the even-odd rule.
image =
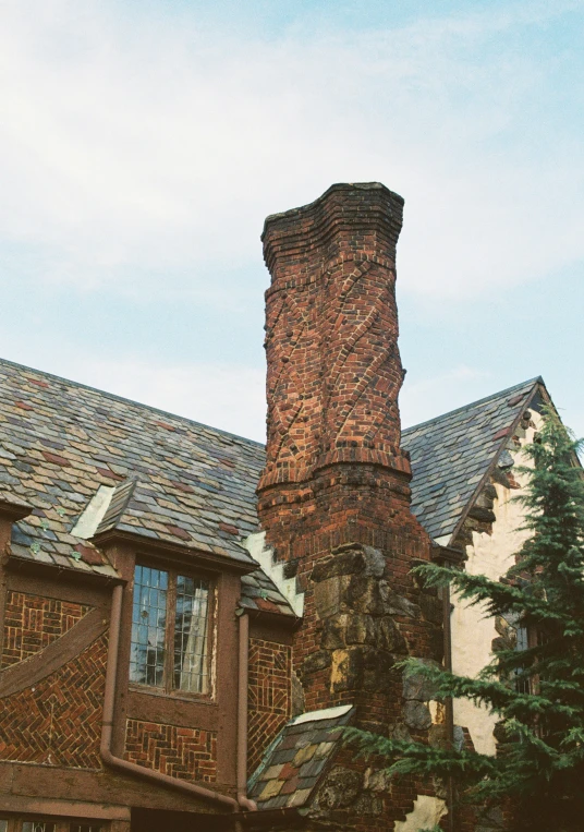
[[[143,765],[136,765],[133,762],[123,760],[121,757],[115,757],[111,752],[111,738],[113,731],[113,707],[115,699],[115,678],[118,675],[118,659],[120,647],[120,625],[122,619],[122,596],[123,587],[117,584],[113,588],[111,598],[111,623],[110,623],[110,641],[108,649],[108,665],[106,670],[106,694],[104,697],[104,721],[101,724],[101,746],[100,753],[101,759],[112,769],[118,769],[127,774],[143,777],[160,786],[167,786],[173,788],[175,792],[182,792],[182,794],[190,795],[191,797],[198,797],[210,803],[219,804],[220,806],[229,807],[231,811],[239,811],[240,804],[233,797],[227,797],[226,795],[211,792],[210,788],[204,788],[197,786],[194,783],[185,783],[183,780],[177,777],[170,777],[168,774],[161,774],[158,771],[146,769]],[[239,822],[236,822],[235,829],[238,829]]]

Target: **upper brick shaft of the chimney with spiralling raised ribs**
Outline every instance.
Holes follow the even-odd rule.
[[[268,455],[259,489],[336,462],[410,471],[394,300],[403,201],[382,186],[330,189],[268,220]]]

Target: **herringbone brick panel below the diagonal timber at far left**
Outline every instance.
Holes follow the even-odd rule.
[[[0,700],[0,760],[99,769],[108,639],[34,688]]]

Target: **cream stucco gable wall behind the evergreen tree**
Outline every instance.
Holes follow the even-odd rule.
[[[515,466],[526,463],[521,446],[533,442],[534,433],[542,424],[542,417],[532,411],[532,424],[515,432],[515,441],[510,439],[508,450],[515,460]],[[534,426],[535,425],[535,426]],[[512,469],[513,478],[521,486],[525,477]],[[514,563],[514,555],[521,548],[527,533],[519,531],[523,524],[523,507],[514,499],[522,487],[508,489],[494,483],[497,497],[492,510],[496,520],[490,534],[473,532],[473,543],[466,546],[466,571],[472,575],[486,575],[498,579]],[[485,617],[480,606],[471,607],[453,596],[452,613],[452,668],[460,675],[476,676],[491,659],[491,643],[498,634],[494,618]],[[496,740],[492,729],[496,718],[484,708],[477,708],[467,700],[454,702],[454,722],[469,728],[474,746],[482,753],[495,753]]]

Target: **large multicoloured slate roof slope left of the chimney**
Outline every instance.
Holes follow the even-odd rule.
[[[70,533],[108,485],[117,490],[98,531],[117,528],[253,567],[241,541],[257,531],[263,463],[259,443],[0,361],[0,497],[8,492],[34,508],[14,524],[16,557],[114,576]]]

